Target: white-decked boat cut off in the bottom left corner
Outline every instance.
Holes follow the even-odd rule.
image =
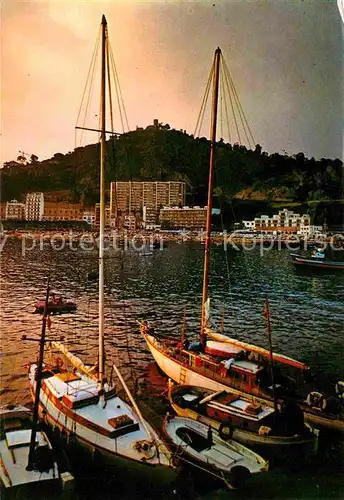
[[[0,408],[1,498],[55,498],[71,490],[74,478],[58,464],[55,450],[43,430],[35,435],[29,466],[32,412],[22,405]]]

